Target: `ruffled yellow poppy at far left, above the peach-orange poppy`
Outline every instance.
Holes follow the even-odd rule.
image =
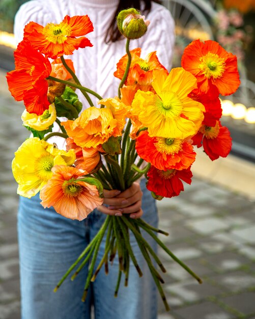
[[[51,178],[53,166],[69,166],[74,161],[74,150],[56,149],[39,138],[25,140],[12,161],[13,176],[19,184],[17,193],[28,198],[35,196]]]

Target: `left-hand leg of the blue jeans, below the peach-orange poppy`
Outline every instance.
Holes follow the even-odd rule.
[[[81,302],[87,268],[53,288],[87,246],[85,223],[44,209],[39,196],[20,198],[18,212],[22,319],[89,319]]]

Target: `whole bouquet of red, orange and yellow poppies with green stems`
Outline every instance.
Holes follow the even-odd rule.
[[[127,53],[114,73],[121,80],[115,98],[102,98],[83,87],[72,61],[64,59],[75,49],[92,46],[84,37],[93,31],[88,16],[66,16],[60,24],[46,26],[27,24],[14,52],[15,70],[7,74],[9,90],[25,105],[23,125],[33,134],[13,159],[17,193],[31,198],[40,192],[44,208],[53,206],[71,219],[82,220],[101,205],[103,189],[124,191],[143,176],[154,198],[178,196],[184,190],[183,181],[191,183],[194,146],[203,146],[212,160],[225,157],[231,150],[229,130],[220,124],[219,94],[232,94],[240,84],[236,57],[217,42],[195,40],[184,50],[182,67],[168,72],[156,51],[142,59],[140,48],[129,50],[129,42],[147,31],[149,21],[144,16],[128,9],[120,12],[117,22],[127,38]],[[90,105],[82,112],[75,89]],[[91,94],[98,98],[98,106],[93,105]],[[52,131],[53,123],[59,125],[59,131]],[[67,150],[48,143],[52,136],[65,139]],[[139,276],[143,275],[129,241],[133,233],[168,310],[156,264],[162,272],[165,269],[141,230],[197,281],[202,281],[159,240],[156,233],[166,232],[124,215],[106,217],[55,290],[72,271],[74,279],[90,262],[84,301],[90,282],[102,266],[107,273],[108,262],[118,256],[117,296],[122,274],[128,284],[130,262]],[[94,269],[103,236],[105,252]]]

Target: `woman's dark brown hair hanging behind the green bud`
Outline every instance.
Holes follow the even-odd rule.
[[[143,2],[144,2],[143,14],[148,14],[148,12],[150,12],[152,1],[160,3],[159,0],[143,0]],[[116,23],[116,17],[121,10],[125,10],[128,8],[135,8],[138,11],[141,10],[141,1],[140,0],[125,0],[125,1],[120,0],[119,1],[119,5],[118,5],[114,15],[112,16],[112,20],[110,22],[107,33],[105,35],[105,42],[106,43],[116,42],[122,37],[122,35],[118,29],[117,23]]]

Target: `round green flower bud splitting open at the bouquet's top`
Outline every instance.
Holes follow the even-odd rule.
[[[145,20],[145,16],[141,16],[137,10],[130,8],[118,14],[117,24],[126,38],[138,39],[146,33],[150,21]]]

